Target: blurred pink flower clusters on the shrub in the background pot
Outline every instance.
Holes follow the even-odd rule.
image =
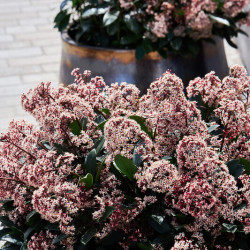
[[[119,0],[120,7],[141,22],[147,31],[145,36],[156,41],[165,38],[169,31],[176,36],[189,36],[194,40],[212,37],[213,26],[220,26],[211,15],[220,15],[229,19],[236,17],[249,4],[248,0],[146,0],[145,8],[133,1]],[[220,6],[222,4],[222,6]],[[241,23],[250,24],[249,18]]]

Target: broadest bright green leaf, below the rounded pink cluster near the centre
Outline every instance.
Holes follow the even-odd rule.
[[[115,156],[115,167],[125,176],[127,176],[131,181],[134,178],[134,174],[137,169],[133,162],[122,155]]]

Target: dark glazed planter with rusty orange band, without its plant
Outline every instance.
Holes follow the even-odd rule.
[[[151,52],[143,60],[136,61],[135,50],[79,46],[67,33],[63,33],[60,81],[65,85],[73,83],[70,73],[74,68],[80,68],[82,72],[91,70],[92,76],[102,76],[108,85],[114,82],[134,83],[142,93],[168,69],[177,74],[185,85],[211,70],[219,77],[228,73],[222,39],[217,39],[216,45],[203,43],[201,53],[195,58],[169,53],[166,59],[162,59],[157,52]]]

